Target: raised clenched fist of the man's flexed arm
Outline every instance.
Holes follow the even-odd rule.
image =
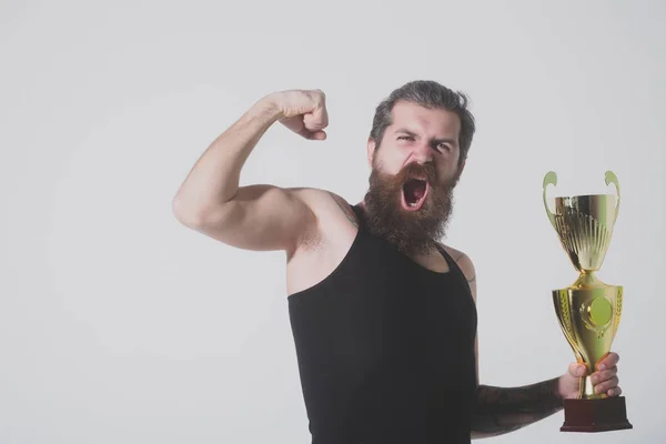
[[[270,95],[280,110],[280,122],[311,140],[325,140],[329,125],[326,97],[321,90],[289,90]]]

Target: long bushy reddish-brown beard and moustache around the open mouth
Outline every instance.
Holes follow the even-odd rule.
[[[418,210],[407,211],[402,205],[403,188],[415,175],[426,178],[431,189]],[[441,184],[431,163],[411,163],[396,175],[373,168],[364,200],[370,232],[407,255],[432,252],[446,233],[456,183],[457,175]]]

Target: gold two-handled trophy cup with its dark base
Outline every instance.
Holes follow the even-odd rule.
[[[607,285],[596,275],[604,258],[619,210],[617,176],[606,172],[606,185],[613,183],[613,194],[588,194],[555,198],[555,211],[546,202],[548,185],[557,185],[557,175],[549,171],[543,183],[543,199],[548,219],[562,246],[581,273],[568,287],[553,290],[553,302],[559,326],[577,362],[587,366],[581,379],[581,392],[575,400],[564,401],[562,432],[605,432],[633,428],[626,416],[625,398],[595,394],[589,375],[596,363],[610,352],[622,313],[623,286]]]

